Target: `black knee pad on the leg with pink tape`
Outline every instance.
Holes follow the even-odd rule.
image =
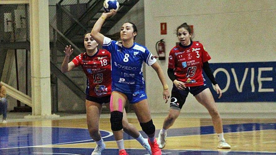
[[[110,113],[110,123],[112,131],[119,131],[123,129],[123,113],[120,111],[112,111]]]

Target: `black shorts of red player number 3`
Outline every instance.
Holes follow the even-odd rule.
[[[189,92],[196,96],[207,88],[207,85],[204,84],[194,87],[187,87],[185,90],[178,90],[173,84],[170,108],[180,110],[184,105]]]

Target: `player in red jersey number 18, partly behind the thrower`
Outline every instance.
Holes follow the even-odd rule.
[[[70,46],[65,48],[65,58],[61,70],[69,72],[77,66],[81,66],[87,76],[86,87],[86,117],[90,136],[97,143],[91,155],[100,155],[105,148],[104,141],[99,132],[99,119],[102,111],[102,104],[109,109],[111,95],[111,54],[107,50],[98,49],[98,43],[90,36],[84,36],[85,53],[76,56],[70,63],[69,57],[73,53]],[[127,121],[126,112],[123,111],[124,132],[134,137],[151,154],[151,147],[147,139],[143,138],[140,132]]]

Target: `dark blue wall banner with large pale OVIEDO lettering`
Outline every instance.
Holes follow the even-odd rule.
[[[205,78],[216,102],[276,101],[276,62],[212,63],[210,67],[222,90],[218,99]]]

